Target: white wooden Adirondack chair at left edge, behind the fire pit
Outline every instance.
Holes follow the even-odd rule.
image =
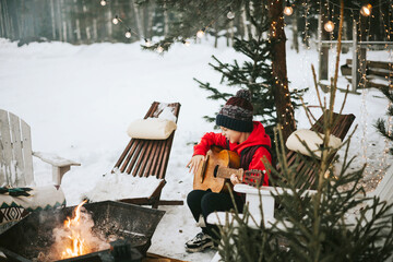
[[[33,155],[52,165],[55,187],[35,187]],[[28,213],[26,210],[66,204],[59,189],[61,179],[71,166],[80,165],[52,154],[32,152],[29,126],[14,114],[0,109],[0,224],[22,218]]]

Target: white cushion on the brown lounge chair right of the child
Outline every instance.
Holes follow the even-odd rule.
[[[296,151],[302,155],[311,156],[311,153],[301,143],[303,141],[311,152],[315,154],[318,158],[321,158],[321,146],[323,144],[324,134],[311,131],[309,129],[299,129],[293,132],[287,139],[285,145],[288,150]],[[336,150],[341,146],[342,140],[331,134],[329,139],[329,147]]]

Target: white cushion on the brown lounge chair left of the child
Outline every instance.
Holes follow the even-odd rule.
[[[127,133],[134,139],[166,140],[176,128],[176,122],[171,120],[147,118],[130,123]]]

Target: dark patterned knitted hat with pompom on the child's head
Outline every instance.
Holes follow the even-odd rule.
[[[216,124],[239,132],[251,132],[252,111],[251,93],[248,90],[239,90],[219,110]]]

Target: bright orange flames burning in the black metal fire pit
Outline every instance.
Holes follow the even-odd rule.
[[[69,247],[64,248],[64,251],[61,254],[61,259],[68,259],[85,254],[84,239],[81,236],[80,230],[80,218],[81,218],[81,207],[87,201],[83,201],[73,210],[73,218],[67,217],[64,221],[64,228],[70,231],[68,238],[70,239]]]

